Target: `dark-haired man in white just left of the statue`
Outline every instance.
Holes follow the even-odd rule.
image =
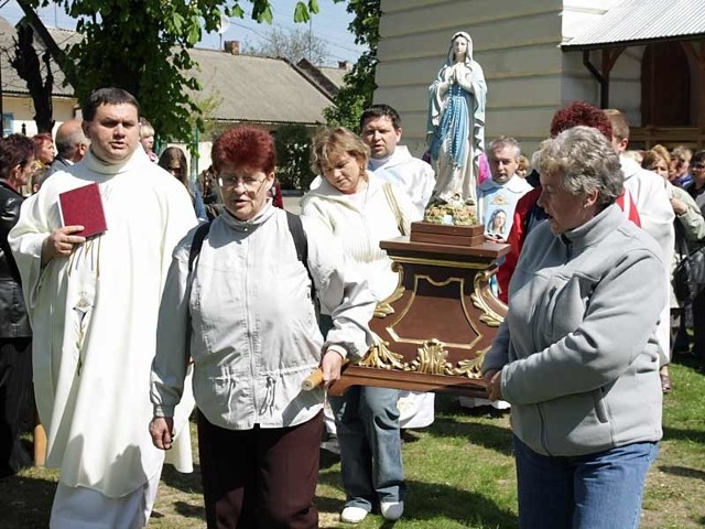
[[[400,145],[401,118],[389,105],[372,105],[360,117],[360,137],[369,145],[369,169],[387,182],[404,190],[421,220],[431,198],[435,177],[430,164],[413,158],[406,145]]]

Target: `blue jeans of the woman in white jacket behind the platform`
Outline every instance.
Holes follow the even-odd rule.
[[[340,446],[345,506],[370,511],[377,501],[403,500],[399,391],[352,386],[328,399]]]

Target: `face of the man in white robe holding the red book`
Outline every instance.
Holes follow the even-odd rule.
[[[129,102],[100,105],[94,119],[84,121],[83,127],[90,150],[107,163],[127,160],[140,144],[138,111]]]

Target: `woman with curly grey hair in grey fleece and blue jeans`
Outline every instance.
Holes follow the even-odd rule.
[[[575,127],[539,156],[547,219],[528,236],[485,357],[511,403],[519,527],[636,528],[661,439],[660,247],[615,201],[619,158]]]

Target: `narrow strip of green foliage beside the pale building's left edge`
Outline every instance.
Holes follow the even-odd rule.
[[[344,0],[334,0],[341,2]],[[349,0],[347,11],[355,13],[348,29],[355,34],[355,43],[367,45],[352,69],[345,76],[345,86],[335,97],[334,107],[324,110],[328,125],[343,126],[358,131],[362,110],[372,104],[375,95],[375,69],[379,44],[379,19],[381,0]]]

